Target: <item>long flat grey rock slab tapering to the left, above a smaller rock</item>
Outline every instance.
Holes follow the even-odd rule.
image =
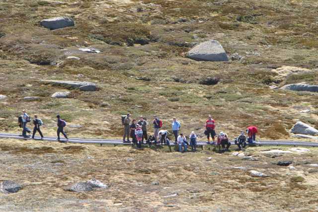
[[[81,81],[65,81],[65,80],[41,80],[46,84],[52,84],[56,86],[63,86],[67,88],[79,88],[82,91],[95,91],[97,86],[92,82],[81,82]]]

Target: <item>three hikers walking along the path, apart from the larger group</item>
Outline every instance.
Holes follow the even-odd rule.
[[[64,132],[64,127],[66,126],[66,121],[62,120],[60,115],[56,116],[57,118],[57,126],[58,126],[58,130],[57,130],[57,140],[60,142],[66,142],[69,141],[66,133]],[[31,117],[26,113],[26,110],[22,110],[22,115],[19,116],[18,118],[18,125],[20,128],[22,128],[22,136],[25,139],[28,139],[31,137],[31,135],[27,135],[27,133],[31,134],[31,130],[29,128],[27,128],[27,124],[31,122]],[[33,134],[32,134],[32,139],[34,139],[34,136],[36,134],[36,132],[39,132],[40,136],[41,136],[41,140],[43,140],[43,134],[40,130],[40,126],[43,125],[43,121],[41,119],[38,118],[37,115],[34,115],[34,119],[33,119]],[[60,139],[60,134],[63,134],[63,136],[65,137],[66,141],[61,141]]]

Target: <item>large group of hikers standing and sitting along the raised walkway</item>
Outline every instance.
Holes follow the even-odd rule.
[[[154,127],[154,135],[148,138],[147,134],[147,126],[149,123],[144,119],[143,116],[140,116],[140,119],[137,121],[136,119],[131,119],[131,114],[127,114],[126,116],[122,116],[122,124],[124,126],[124,136],[123,142],[131,142],[129,138],[132,139],[133,143],[137,143],[138,147],[144,143],[146,140],[147,143],[161,143],[161,144],[169,144],[170,140],[167,138],[169,132],[167,130],[161,130],[162,128],[162,120],[158,118],[157,115],[154,116],[154,120],[152,121]],[[229,150],[231,146],[231,142],[229,141],[228,135],[220,132],[217,136],[215,132],[215,120],[209,115],[208,119],[205,123],[205,132],[204,134],[207,136],[208,144],[218,144],[222,146],[223,150]],[[174,143],[178,145],[179,151],[187,151],[187,146],[190,145],[193,151],[196,151],[197,144],[197,135],[194,131],[191,132],[188,139],[190,143],[188,143],[186,137],[179,133],[181,128],[180,122],[174,117],[172,119],[171,130],[174,136]],[[256,140],[256,134],[258,130],[255,126],[250,126],[246,129],[247,136],[245,136],[245,132],[241,131],[238,138],[235,139],[235,143],[238,145],[239,149],[246,146],[246,141],[248,143],[253,143]],[[217,137],[217,141],[215,142],[215,138]],[[127,140],[126,140],[127,138]],[[212,141],[210,140],[212,139]],[[182,150],[183,147],[183,150]]]

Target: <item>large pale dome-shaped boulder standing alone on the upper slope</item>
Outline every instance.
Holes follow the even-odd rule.
[[[188,58],[196,61],[229,61],[223,47],[216,40],[196,45],[188,52]]]

